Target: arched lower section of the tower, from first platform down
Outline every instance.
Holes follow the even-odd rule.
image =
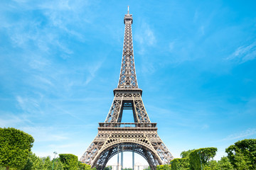
[[[100,123],[98,130],[97,137],[80,159],[97,169],[103,169],[109,159],[117,154],[118,145],[124,151],[142,155],[151,169],[156,169],[159,164],[169,164],[174,159],[157,135],[156,123]]]

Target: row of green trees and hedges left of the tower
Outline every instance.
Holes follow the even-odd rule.
[[[0,128],[0,170],[89,170],[90,165],[78,162],[74,154],[59,154],[50,157],[37,157],[31,152],[33,137],[15,128]]]

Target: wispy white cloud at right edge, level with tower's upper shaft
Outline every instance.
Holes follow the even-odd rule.
[[[256,41],[250,45],[242,45],[238,47],[232,55],[226,58],[226,60],[233,60],[240,64],[249,60],[254,60],[256,57]]]

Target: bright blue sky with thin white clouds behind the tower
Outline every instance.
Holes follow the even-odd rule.
[[[256,1],[1,1],[1,127],[33,135],[38,156],[80,157],[117,87],[127,5],[144,105],[174,157],[255,138]]]

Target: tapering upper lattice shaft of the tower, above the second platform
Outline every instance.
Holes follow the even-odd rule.
[[[133,89],[138,88],[134,64],[134,52],[132,46],[132,20],[124,19],[124,47],[122,65],[117,88]]]

